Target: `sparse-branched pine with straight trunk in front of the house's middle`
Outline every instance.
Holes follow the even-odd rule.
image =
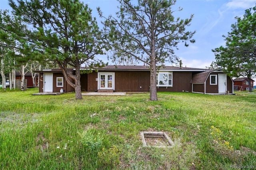
[[[189,19],[175,19],[173,10],[176,0],[138,0],[134,5],[131,0],[118,0],[120,11],[117,18],[105,18],[108,28],[108,40],[118,59],[124,53],[150,66],[150,100],[157,100],[156,71],[165,61],[173,62],[178,59],[174,49],[179,42],[194,43],[192,36],[195,32],[185,31],[190,25]],[[103,17],[100,10],[99,14]]]

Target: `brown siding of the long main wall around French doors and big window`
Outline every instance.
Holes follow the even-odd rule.
[[[116,92],[148,92],[150,87],[149,71],[100,71],[115,73],[115,91]],[[88,91],[98,90],[98,73],[93,71],[88,74]],[[158,87],[157,91],[192,91],[190,81],[192,72],[173,72],[172,87]],[[140,88],[141,87],[141,88]]]

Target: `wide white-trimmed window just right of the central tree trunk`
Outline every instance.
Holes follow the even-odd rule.
[[[172,71],[159,71],[156,75],[156,86],[172,87]]]

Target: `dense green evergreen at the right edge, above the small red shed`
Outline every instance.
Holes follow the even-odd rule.
[[[226,46],[213,49],[218,65],[232,77],[244,77],[248,82],[256,75],[256,6],[236,17],[231,32],[223,36]],[[249,91],[252,91],[249,83]]]

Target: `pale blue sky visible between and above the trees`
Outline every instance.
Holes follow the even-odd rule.
[[[99,19],[96,8],[100,7],[104,16],[115,16],[118,12],[118,2],[116,0],[80,0],[92,9],[92,15]],[[181,12],[175,12],[174,16],[181,19],[190,18],[194,14],[191,25],[186,31],[196,31],[193,38],[195,43],[178,45],[179,50],[175,55],[182,60],[183,67],[206,68],[212,61],[215,61],[212,49],[225,45],[222,35],[227,35],[231,30],[231,24],[236,22],[235,17],[242,17],[244,11],[254,7],[256,0],[177,0],[172,7],[183,8]],[[0,10],[9,9],[8,0],[0,0]],[[100,24],[100,21],[98,21]],[[102,58],[107,61],[106,57]],[[108,61],[111,64],[111,61]],[[143,63],[142,63],[143,64]],[[142,65],[141,64],[141,65]],[[166,63],[166,65],[175,65]]]

